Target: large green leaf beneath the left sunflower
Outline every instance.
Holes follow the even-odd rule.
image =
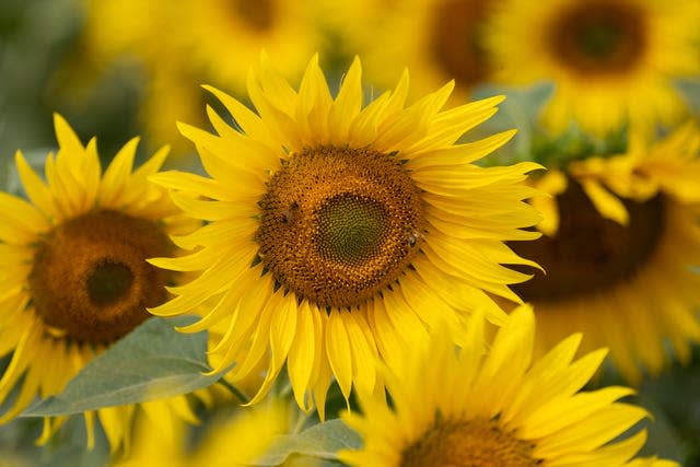
[[[66,389],[30,407],[22,417],[80,413],[191,393],[220,375],[205,376],[207,335],[173,329],[182,319],[153,317],[93,359]]]

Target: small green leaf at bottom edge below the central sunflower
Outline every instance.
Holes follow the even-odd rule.
[[[315,424],[299,434],[276,436],[267,453],[256,459],[256,466],[277,466],[292,455],[337,460],[340,450],[357,450],[362,445],[360,435],[346,425],[342,420],[334,419]]]

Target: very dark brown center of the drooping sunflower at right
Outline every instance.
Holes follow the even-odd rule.
[[[662,197],[626,200],[627,226],[603,218],[573,180],[557,201],[560,224],[555,237],[509,244],[547,271],[513,287],[526,302],[558,302],[611,289],[643,267],[663,235]]]

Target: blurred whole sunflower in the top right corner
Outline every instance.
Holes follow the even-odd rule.
[[[545,124],[598,136],[623,124],[678,122],[673,79],[700,73],[695,0],[528,0],[501,3],[487,34],[497,80],[551,80]]]

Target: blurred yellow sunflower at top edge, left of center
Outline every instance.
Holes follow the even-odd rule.
[[[62,87],[75,87],[71,82],[78,80],[85,94],[85,62],[93,81],[114,67],[136,68],[142,77],[139,118],[144,137],[155,145],[174,145],[176,156],[186,154],[189,145],[175,121],[206,122],[199,84],[242,95],[260,49],[280,57],[290,77],[298,78],[306,58],[326,48],[314,5],[290,0],[84,0],[79,47],[86,57],[77,57],[58,79]]]

